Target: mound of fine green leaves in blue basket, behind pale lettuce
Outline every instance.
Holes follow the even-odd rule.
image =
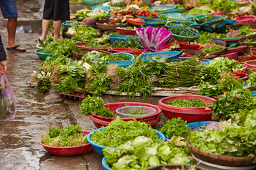
[[[146,123],[137,120],[124,121],[117,116],[115,120],[102,130],[92,133],[91,140],[97,145],[117,147],[136,137],[149,137],[154,142],[160,142],[157,132]]]

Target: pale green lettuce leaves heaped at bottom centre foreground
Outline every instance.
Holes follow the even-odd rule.
[[[115,149],[103,149],[106,163],[112,169],[146,169],[159,164],[187,164],[189,159],[179,147],[169,143],[160,145],[148,137],[139,136]]]

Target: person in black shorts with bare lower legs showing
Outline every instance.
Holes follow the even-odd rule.
[[[53,39],[60,37],[61,20],[70,20],[69,0],[46,0],[43,7],[42,34],[39,41],[46,39],[50,20],[53,20]]]

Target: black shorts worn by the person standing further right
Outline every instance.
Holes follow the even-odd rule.
[[[69,0],[46,0],[43,8],[43,19],[70,20]]]

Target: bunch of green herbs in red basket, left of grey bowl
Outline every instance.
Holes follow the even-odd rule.
[[[82,114],[90,115],[90,113],[95,113],[95,115],[101,115],[103,117],[114,118],[116,114],[110,111],[109,108],[104,107],[104,101],[99,97],[90,97],[88,96],[85,99],[82,99],[80,104],[80,109]]]

